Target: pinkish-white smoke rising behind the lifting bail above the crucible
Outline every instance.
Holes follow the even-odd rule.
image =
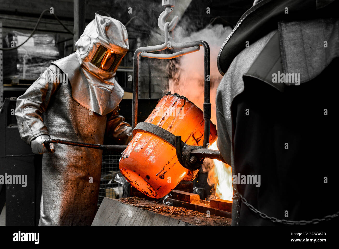
[[[210,67],[211,67],[211,103],[212,103],[212,122],[216,124],[215,98],[216,90],[222,79],[217,67],[217,56],[220,47],[228,34],[231,33],[231,27],[223,27],[222,24],[209,25],[206,28],[184,37],[186,33],[183,26],[175,29],[176,42],[190,42],[204,40],[210,46]],[[168,67],[170,72],[169,89],[180,95],[187,97],[198,107],[203,109],[204,102],[204,49],[188,55],[171,60]]]

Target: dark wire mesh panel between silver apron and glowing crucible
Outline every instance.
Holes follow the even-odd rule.
[[[104,197],[118,199],[122,197],[123,187],[114,181],[117,173],[119,173],[119,155],[106,154],[102,155],[101,179],[99,189],[98,206],[100,206]]]

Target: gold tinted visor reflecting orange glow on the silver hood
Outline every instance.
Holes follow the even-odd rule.
[[[125,55],[116,54],[111,49],[100,45],[95,52],[91,63],[101,70],[113,72],[118,68],[124,56]]]

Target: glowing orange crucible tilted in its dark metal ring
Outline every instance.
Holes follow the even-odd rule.
[[[203,112],[196,105],[183,96],[167,93],[145,122],[134,128],[134,137],[121,155],[121,173],[152,198],[163,197],[181,180],[193,181],[205,154],[190,153],[207,150],[201,146],[204,122]],[[208,137],[210,143],[217,139],[213,124]]]

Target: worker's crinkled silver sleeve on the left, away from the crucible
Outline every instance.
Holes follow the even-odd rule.
[[[15,116],[20,137],[28,145],[41,135],[49,135],[43,123],[42,114],[46,111],[49,100],[59,86],[57,75],[60,69],[50,65],[26,92],[17,98]]]

